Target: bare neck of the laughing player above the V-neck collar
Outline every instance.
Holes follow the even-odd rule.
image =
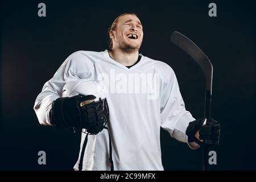
[[[127,53],[123,52],[121,49],[113,49],[112,51],[109,51],[109,56],[122,65],[130,66],[136,63],[138,60],[139,52],[137,50],[131,53]]]

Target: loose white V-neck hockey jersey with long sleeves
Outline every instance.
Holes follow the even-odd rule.
[[[62,96],[67,81],[91,78],[104,87],[108,101],[114,169],[163,170],[160,127],[187,142],[185,130],[195,119],[185,110],[172,68],[141,56],[127,68],[114,61],[108,50],[72,53],[36,98],[34,110],[40,124],[51,125],[52,101]],[[195,142],[188,144],[193,149],[199,147]],[[110,170],[107,130],[88,136],[82,169]]]

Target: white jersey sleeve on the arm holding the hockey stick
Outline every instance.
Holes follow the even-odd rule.
[[[162,84],[160,94],[160,115],[161,127],[170,133],[171,137],[180,142],[188,143],[188,137],[185,134],[188,124],[194,121],[191,113],[185,109],[185,104],[180,93],[179,84],[172,68],[163,63]],[[192,149],[200,146],[195,142],[188,143]]]

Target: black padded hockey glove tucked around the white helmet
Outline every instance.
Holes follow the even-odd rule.
[[[90,134],[97,134],[104,128],[108,117],[104,105],[106,100],[90,102],[81,106],[81,102],[94,100],[93,95],[79,94],[73,97],[60,97],[52,103],[51,123],[57,127],[77,127],[86,129]]]

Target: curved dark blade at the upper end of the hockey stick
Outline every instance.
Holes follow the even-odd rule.
[[[197,64],[199,64],[202,71],[204,72],[205,87],[207,90],[210,90],[210,93],[212,93],[213,67],[212,63],[210,63],[210,60],[204,54],[204,52],[190,39],[176,31],[171,35],[171,42],[174,43],[177,47],[183,49],[183,51],[188,53],[188,55],[191,56]]]

